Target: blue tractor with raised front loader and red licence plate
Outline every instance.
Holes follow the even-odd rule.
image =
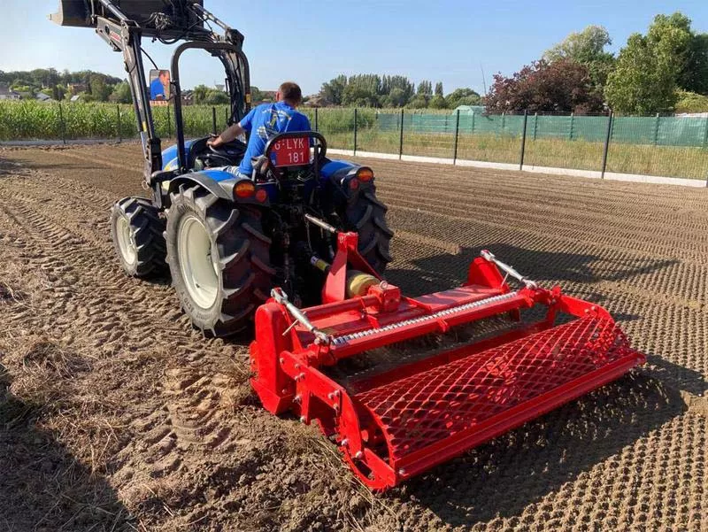
[[[129,275],[169,268],[181,307],[196,328],[214,336],[248,328],[273,287],[281,287],[298,306],[318,304],[339,231],[358,233],[359,254],[375,273],[384,271],[393,233],[386,206],[376,197],[372,169],[327,158],[319,133],[274,136],[251,179],[223,170],[240,163],[242,140],[216,149],[207,144],[208,136],[185,140],[179,60],[186,50],[204,50],[224,66],[229,124],[250,110],[243,35],[205,10],[203,0],[60,0],[50,19],[96,28],[123,54],[145,159],[144,187],[151,197],[125,197],[112,207],[113,243]],[[173,53],[166,102],[150,101],[142,37],[184,41]],[[177,143],[162,150],[151,106],[167,102]],[[352,294],[367,279],[352,272]]]

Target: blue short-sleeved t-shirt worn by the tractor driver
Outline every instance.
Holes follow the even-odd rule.
[[[246,175],[253,173],[250,159],[263,155],[266,143],[273,136],[289,131],[310,131],[310,120],[285,102],[260,104],[251,109],[239,124],[246,131],[250,131],[249,145],[241,165],[238,166],[238,171]]]

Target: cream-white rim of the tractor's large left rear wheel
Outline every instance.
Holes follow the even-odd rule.
[[[180,221],[177,251],[189,296],[203,309],[211,308],[219,295],[219,269],[212,259],[212,239],[202,220],[188,214]]]

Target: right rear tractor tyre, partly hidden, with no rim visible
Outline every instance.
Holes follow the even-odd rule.
[[[357,201],[347,204],[342,220],[348,231],[359,235],[358,249],[378,274],[383,274],[391,261],[390,242],[393,231],[386,223],[388,207],[382,204],[373,190],[361,192]]]

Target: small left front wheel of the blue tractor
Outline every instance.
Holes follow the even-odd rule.
[[[144,277],[165,267],[165,221],[144,197],[124,197],[111,209],[111,236],[128,275]]]

